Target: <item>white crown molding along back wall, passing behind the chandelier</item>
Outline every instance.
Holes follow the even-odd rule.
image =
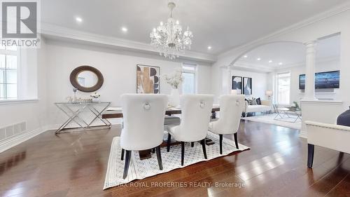
[[[49,37],[57,37],[62,39],[71,39],[76,41],[83,41],[87,43],[97,43],[108,47],[115,47],[123,50],[137,51],[140,53],[153,53],[158,54],[148,43],[141,43],[137,41],[130,41],[127,39],[118,39],[113,36],[102,36],[99,34],[92,34],[89,32],[83,32],[76,29],[69,29],[57,25],[48,23],[41,23],[41,34]],[[182,59],[199,60],[202,62],[214,63],[217,60],[215,55],[209,55],[206,53],[199,53],[191,50],[187,50],[186,53],[180,55]]]

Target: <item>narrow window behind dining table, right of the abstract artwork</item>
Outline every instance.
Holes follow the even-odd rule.
[[[183,94],[195,94],[195,74],[196,66],[192,64],[183,64],[182,67],[182,93]]]

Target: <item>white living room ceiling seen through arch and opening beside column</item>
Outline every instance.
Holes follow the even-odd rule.
[[[321,39],[316,45],[316,60],[339,59],[340,35]],[[246,57],[244,57],[246,56]],[[304,64],[306,48],[302,43],[279,42],[260,46],[242,56],[237,64],[280,69]],[[258,60],[260,58],[261,60]],[[272,62],[269,62],[272,60]],[[282,65],[279,65],[282,62]]]

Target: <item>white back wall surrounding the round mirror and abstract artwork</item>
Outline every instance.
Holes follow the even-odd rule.
[[[48,113],[50,124],[57,125],[64,121],[64,115],[54,102],[65,101],[73,96],[69,75],[80,65],[96,67],[104,76],[104,84],[97,90],[100,100],[112,102],[112,106],[120,106],[120,95],[136,93],[136,65],[146,64],[160,67],[160,74],[170,74],[182,67],[182,62],[167,61],[164,57],[126,53],[118,50],[99,48],[75,43],[49,40],[47,44],[47,76],[48,76]],[[211,93],[211,67],[198,62],[197,93]],[[160,93],[169,94],[169,86],[160,78]],[[91,93],[78,91],[78,97],[90,97]]]

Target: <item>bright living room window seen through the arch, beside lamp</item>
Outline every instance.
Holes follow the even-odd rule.
[[[277,101],[290,104],[290,73],[277,74]]]

